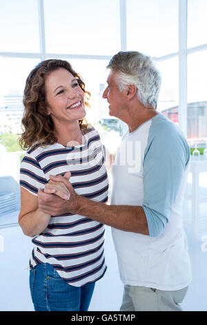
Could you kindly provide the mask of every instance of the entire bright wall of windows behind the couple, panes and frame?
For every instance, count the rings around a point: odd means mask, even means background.
[[[157,110],[181,129],[186,122],[190,141],[205,141],[206,14],[206,0],[0,0],[0,225],[17,222],[17,215],[6,214],[2,204],[7,200],[13,211],[10,194],[18,197],[23,88],[28,73],[43,59],[66,59],[82,75],[91,93],[88,122],[112,146],[112,139],[118,143],[127,128],[108,115],[102,99],[106,65],[119,50],[150,55],[162,76]],[[181,17],[188,18],[185,35]],[[188,62],[188,73],[181,71],[181,58]],[[181,86],[187,84],[185,96]],[[186,121],[179,118],[183,111]]]

